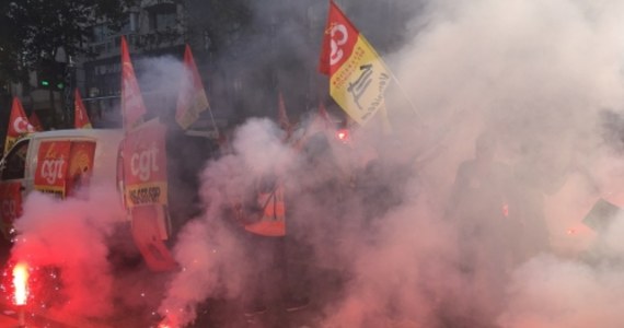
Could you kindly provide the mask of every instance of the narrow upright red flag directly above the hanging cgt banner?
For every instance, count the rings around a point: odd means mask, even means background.
[[[122,36],[122,116],[126,131],[135,128],[147,113],[141,90],[130,61],[126,37]]]

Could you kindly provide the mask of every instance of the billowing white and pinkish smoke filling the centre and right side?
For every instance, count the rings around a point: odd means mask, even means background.
[[[279,167],[289,236],[309,247],[291,259],[307,265],[297,288],[322,307],[325,327],[615,326],[617,306],[606,304],[621,289],[620,270],[578,255],[597,238],[581,222],[594,201],[619,203],[621,160],[604,143],[600,114],[619,113],[624,101],[624,5],[440,0],[423,10],[413,38],[386,58],[403,89],[389,97],[392,136],[365,128],[348,147],[330,141],[330,152],[310,145],[292,154],[275,127],[252,121],[236,133],[235,155],[207,166],[206,212],[182,234],[176,258],[185,270],[162,315],[223,296],[222,288],[241,292],[253,267],[224,261],[220,253],[244,258],[241,242],[208,222],[229,220],[223,195],[243,197]],[[525,198],[509,204],[508,219],[546,221],[508,224],[510,239],[466,238],[446,215],[458,166],[474,156],[483,131],[498,141],[506,188]],[[540,233],[550,247],[531,249]],[[466,247],[477,249],[469,254],[474,272],[463,267]],[[211,260],[189,269],[198,255]],[[216,278],[224,269],[240,274],[226,283]]]

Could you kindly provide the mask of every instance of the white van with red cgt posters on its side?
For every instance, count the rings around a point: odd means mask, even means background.
[[[84,177],[91,185],[114,186],[123,137],[120,129],[71,129],[35,132],[20,139],[0,161],[2,225],[19,218],[21,200],[35,189],[65,197],[69,188],[84,184]]]

